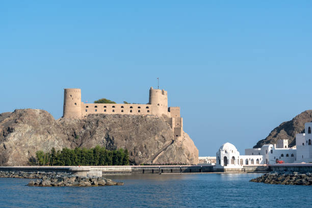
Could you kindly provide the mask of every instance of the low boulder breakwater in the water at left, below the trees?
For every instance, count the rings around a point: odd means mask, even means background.
[[[89,186],[122,186],[122,182],[115,182],[105,177],[87,177],[76,176],[69,173],[56,173],[56,172],[8,172],[0,171],[0,177],[12,178],[34,178],[27,186],[40,186],[40,187],[63,187],[63,186],[76,186],[76,187],[89,187]],[[41,180],[40,180],[41,179]]]

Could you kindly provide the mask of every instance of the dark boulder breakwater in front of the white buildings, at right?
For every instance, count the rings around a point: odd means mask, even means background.
[[[250,181],[265,184],[281,185],[312,185],[312,173],[298,172],[271,172],[260,177],[253,178]]]

